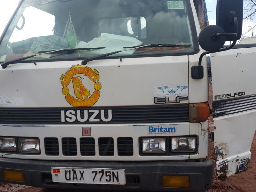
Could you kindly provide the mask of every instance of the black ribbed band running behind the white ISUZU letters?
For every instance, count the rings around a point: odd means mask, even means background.
[[[112,110],[112,119],[101,120],[100,112],[95,119],[99,122],[65,121],[65,124],[120,124],[120,123],[173,123],[188,122],[188,105],[150,106],[150,107],[109,107],[109,108],[0,108],[0,124],[64,124],[61,122],[61,111]],[[89,114],[92,115],[92,114]],[[65,118],[64,118],[65,119]]]

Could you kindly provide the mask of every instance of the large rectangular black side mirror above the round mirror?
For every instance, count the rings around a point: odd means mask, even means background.
[[[225,33],[237,33],[237,40],[242,36],[243,28],[243,0],[217,0],[216,25]],[[237,18],[237,29],[234,18]],[[233,41],[234,37],[228,37],[226,41]]]

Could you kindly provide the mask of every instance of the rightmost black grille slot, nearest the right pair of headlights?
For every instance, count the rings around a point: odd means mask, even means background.
[[[133,156],[133,140],[131,137],[117,138],[117,151],[119,156]]]

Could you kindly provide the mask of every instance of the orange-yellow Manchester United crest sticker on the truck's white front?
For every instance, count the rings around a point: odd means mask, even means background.
[[[68,103],[73,107],[91,107],[100,98],[99,90],[101,89],[101,84],[99,79],[99,72],[96,69],[92,70],[86,66],[73,65],[65,75],[60,77],[63,86],[62,93],[65,95],[65,99]],[[74,96],[72,96],[69,91],[71,81]],[[90,86],[92,83],[93,87]]]

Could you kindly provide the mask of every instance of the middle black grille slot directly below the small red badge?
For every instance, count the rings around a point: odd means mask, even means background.
[[[80,138],[81,156],[95,156],[94,138]]]

